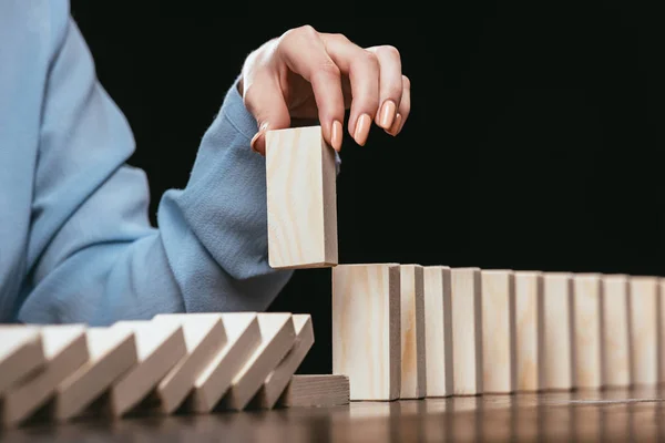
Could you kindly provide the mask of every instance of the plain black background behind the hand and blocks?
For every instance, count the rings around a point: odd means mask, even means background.
[[[72,13],[134,131],[153,220],[247,53],[307,23],[397,47],[412,82],[398,137],[344,142],[340,262],[665,275],[664,40],[654,12],[580,4],[262,21],[182,3],[119,21],[74,1]],[[313,315],[300,372],[329,372],[330,270],[296,271],[270,310]]]

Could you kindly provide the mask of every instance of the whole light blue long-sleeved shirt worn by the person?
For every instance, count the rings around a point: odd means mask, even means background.
[[[0,1],[0,322],[265,310],[293,271],[268,266],[256,131],[231,85],[151,226],[131,128],[69,1]]]

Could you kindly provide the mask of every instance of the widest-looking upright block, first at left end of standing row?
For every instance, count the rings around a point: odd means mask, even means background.
[[[332,373],[348,375],[352,401],[399,398],[400,310],[399,265],[332,269]]]

